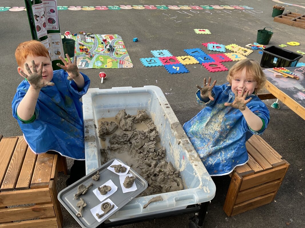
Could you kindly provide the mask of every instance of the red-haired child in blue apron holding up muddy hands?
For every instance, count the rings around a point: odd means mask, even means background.
[[[80,98],[90,79],[70,57],[59,57],[63,70],[53,71],[46,47],[37,40],[20,43],[15,52],[18,73],[24,79],[13,98],[13,116],[35,154],[59,153],[75,159],[72,184],[85,175],[84,120]],[[66,72],[65,72],[65,71]]]

